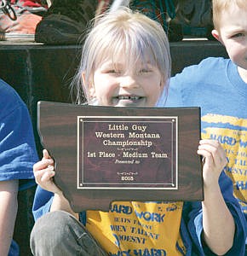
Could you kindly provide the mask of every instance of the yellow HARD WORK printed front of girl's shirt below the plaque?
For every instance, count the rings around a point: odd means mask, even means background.
[[[183,255],[182,207],[182,202],[113,202],[109,212],[87,211],[86,227],[110,255]]]

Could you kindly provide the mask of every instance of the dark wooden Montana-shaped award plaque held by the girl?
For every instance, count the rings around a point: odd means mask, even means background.
[[[37,103],[55,183],[75,212],[112,201],[201,201],[199,108]]]

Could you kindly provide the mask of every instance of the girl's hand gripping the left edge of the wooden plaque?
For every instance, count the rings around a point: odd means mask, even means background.
[[[33,166],[33,172],[35,181],[40,187],[58,195],[62,194],[53,181],[55,176],[54,160],[50,158],[46,149],[43,149],[43,159]]]

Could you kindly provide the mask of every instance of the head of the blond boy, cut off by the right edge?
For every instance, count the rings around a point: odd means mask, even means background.
[[[244,72],[247,70],[246,0],[213,0],[213,19],[212,35],[225,46],[231,60]]]

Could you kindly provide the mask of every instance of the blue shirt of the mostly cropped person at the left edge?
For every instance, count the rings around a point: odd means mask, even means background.
[[[19,189],[35,184],[32,166],[38,160],[32,122],[25,103],[0,79],[0,181],[20,180]],[[9,255],[18,255],[12,242]]]

